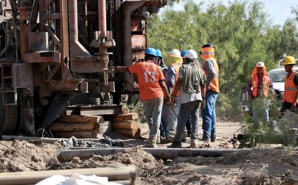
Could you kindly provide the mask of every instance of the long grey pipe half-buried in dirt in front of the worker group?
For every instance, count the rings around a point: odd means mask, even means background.
[[[94,155],[109,155],[121,153],[130,148],[61,148],[58,151],[59,161],[71,161],[73,157],[87,159]],[[258,149],[211,149],[211,148],[142,148],[160,159],[174,159],[176,157],[222,157],[234,152],[255,152]]]

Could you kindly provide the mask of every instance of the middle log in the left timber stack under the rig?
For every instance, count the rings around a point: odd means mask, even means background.
[[[51,131],[96,131],[98,124],[96,123],[51,123],[48,127]]]

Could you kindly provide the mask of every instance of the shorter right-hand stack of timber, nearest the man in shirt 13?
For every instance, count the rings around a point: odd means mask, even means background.
[[[129,137],[140,137],[141,130],[138,128],[137,113],[127,113],[105,116],[105,121],[111,121],[112,130],[116,133]]]

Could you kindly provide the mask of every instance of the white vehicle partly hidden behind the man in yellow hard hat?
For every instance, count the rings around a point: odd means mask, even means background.
[[[296,59],[296,65],[294,65],[294,70],[298,72],[298,65],[297,65],[298,59]],[[275,94],[277,96],[277,99],[279,101],[282,101],[283,93],[284,93],[284,78],[286,75],[286,72],[284,70],[284,66],[282,64],[283,59],[279,60],[277,62],[277,69],[270,70],[269,76],[272,80],[273,88],[275,91]]]

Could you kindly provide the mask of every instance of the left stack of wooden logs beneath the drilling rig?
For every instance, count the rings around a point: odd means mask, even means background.
[[[54,137],[96,138],[99,126],[104,122],[102,116],[61,116],[49,125]]]

